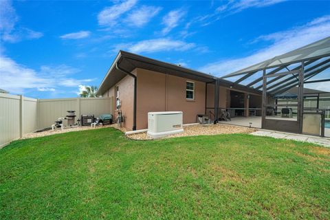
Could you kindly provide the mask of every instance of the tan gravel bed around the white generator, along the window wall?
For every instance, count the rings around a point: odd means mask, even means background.
[[[235,126],[230,124],[197,124],[191,126],[184,126],[184,132],[177,133],[175,135],[168,135],[164,138],[169,137],[185,137],[185,136],[197,136],[197,135],[219,135],[219,134],[229,134],[229,133],[252,133],[257,131],[255,128],[248,128],[245,126]],[[127,135],[127,137],[133,140],[151,140],[150,137],[144,133],[135,133],[132,135]]]

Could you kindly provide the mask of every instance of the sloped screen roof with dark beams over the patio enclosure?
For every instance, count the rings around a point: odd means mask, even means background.
[[[302,66],[304,62],[304,67]],[[329,78],[309,80],[330,67],[330,37],[300,47],[280,56],[246,67],[221,79],[234,78],[233,85],[244,85],[253,89],[263,88],[263,72],[274,76],[267,80],[267,93],[271,95],[283,92],[298,85],[298,72],[304,70],[304,83],[327,82]],[[291,73],[291,74],[285,74]],[[243,82],[247,82],[243,84]]]

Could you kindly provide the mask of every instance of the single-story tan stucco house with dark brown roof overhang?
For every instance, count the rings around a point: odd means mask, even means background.
[[[219,109],[232,109],[233,116],[249,116],[250,111],[261,115],[258,89],[124,51],[116,56],[97,95],[113,97],[115,118],[116,100],[121,101],[128,130],[146,129],[151,111],[182,111],[184,124],[197,122],[198,114],[217,122]]]

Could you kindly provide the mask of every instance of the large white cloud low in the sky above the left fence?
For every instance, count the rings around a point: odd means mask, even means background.
[[[1,89],[14,94],[23,94],[25,89],[60,91],[63,87],[78,87],[95,78],[76,79],[72,75],[80,69],[67,65],[41,66],[39,71],[16,63],[11,58],[0,56]]]

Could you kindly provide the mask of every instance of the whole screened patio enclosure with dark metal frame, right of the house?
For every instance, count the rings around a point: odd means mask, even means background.
[[[329,135],[327,115],[330,107],[320,106],[320,94],[307,97],[304,90],[304,85],[314,87],[318,83],[328,83],[329,67],[330,37],[327,37],[223,76],[221,79],[232,81],[231,89],[244,85],[261,92],[262,96],[261,116],[251,117],[249,104],[244,104],[245,118],[236,117],[221,123],[321,137]],[[296,88],[295,96],[288,92],[292,88]],[[282,102],[284,96],[290,96],[290,101]],[[245,94],[242,100],[248,103],[249,98],[249,94]],[[316,99],[316,105],[307,107],[304,100],[308,98]],[[227,111],[231,109],[227,108]]]

